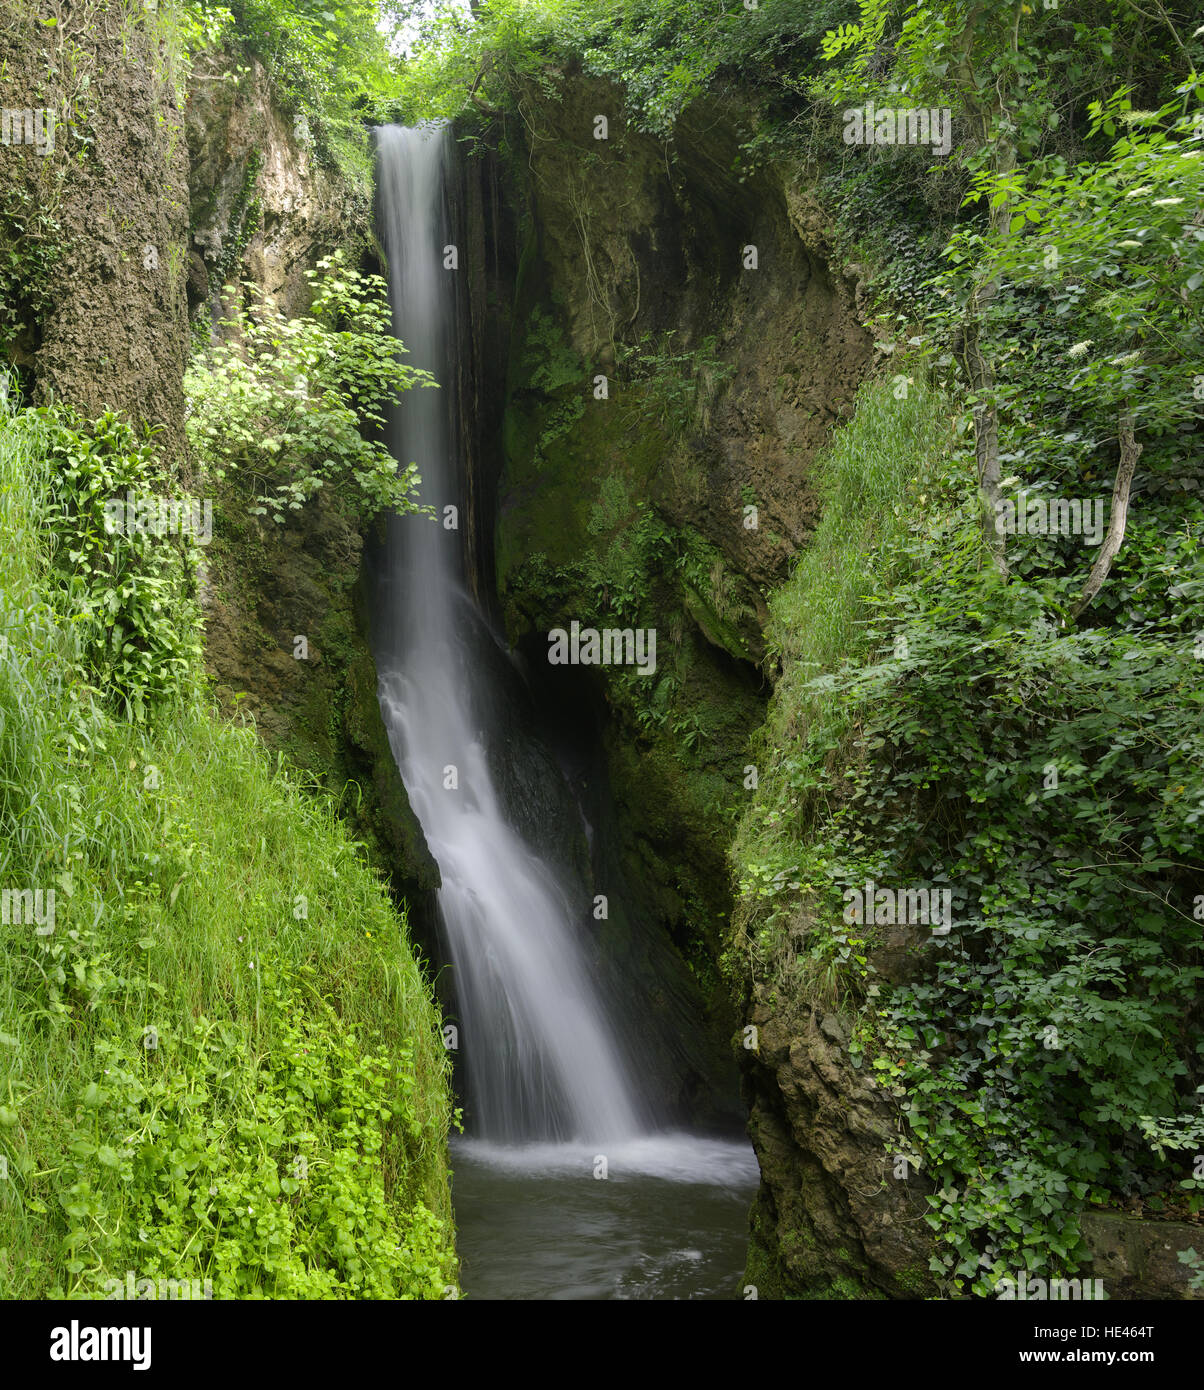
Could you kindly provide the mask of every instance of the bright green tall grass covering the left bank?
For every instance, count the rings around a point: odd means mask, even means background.
[[[448,1059],[405,922],[331,803],[199,687],[142,728],[93,699],[44,493],[36,425],[0,404],[0,890],[56,891],[53,931],[0,924],[0,1295],[96,1297],[127,1269],[215,1276],[218,1297],[380,1293],[368,1252],[346,1248],[375,1198],[381,1238],[417,1270],[388,1291],[437,1295],[455,1280]],[[304,1094],[298,1029],[334,1068],[334,1099]],[[393,1077],[378,1136],[355,1109],[368,1052]],[[268,1093],[292,1131],[264,1129]],[[202,1133],[209,1152],[156,1168],[165,1136]],[[298,1150],[313,1182],[281,1197],[272,1172]],[[221,1165],[239,1193],[259,1184],[270,1230],[253,1213],[236,1227],[227,1188],[200,1183]],[[359,1205],[339,1225],[343,1195]],[[163,1213],[152,1232],[147,1211]],[[442,1226],[410,1251],[425,1212]]]

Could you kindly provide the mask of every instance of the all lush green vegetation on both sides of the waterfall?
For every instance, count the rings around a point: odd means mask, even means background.
[[[501,117],[509,139],[583,72],[666,158],[719,96],[747,114],[741,177],[817,171],[888,366],[816,466],[822,521],[772,600],[781,678],[733,851],[729,977],[854,1017],[854,1059],[932,1183],[945,1293],[1072,1273],[1090,1205],[1196,1216],[1204,33],[1186,4],[484,0],[424,11],[400,64],[380,14],[190,0],[179,42],[261,61],[299,138],[360,175],[373,117],[459,117],[466,136]],[[841,113],[868,101],[947,110],[948,152],[845,143]],[[56,217],[50,197],[0,203],[0,348],[32,341]],[[252,291],[186,384],[196,460],[278,523],[323,488],[364,518],[403,507],[413,482],[371,435],[423,379],[381,284],[334,256],[314,292],[285,318]],[[633,450],[680,443],[723,379],[713,345],[615,348]],[[528,378],[558,398],[542,466],[577,441],[580,364],[542,354]],[[192,543],[106,531],[114,493],[165,485],[113,413],[4,406],[0,1280],[439,1297],[446,1059],[425,981],[328,803],[207,708]],[[1101,503],[1098,538],[995,524],[1032,499]],[[741,655],[741,596],[701,537],[621,478],[585,530],[602,548],[559,566],[560,592],[567,573],[624,624],[649,596],[702,609]],[[633,723],[663,734],[673,656],[623,678]],[[706,752],[697,720],[670,731]],[[950,891],[916,970],[886,979],[874,924],[845,920],[866,880]]]

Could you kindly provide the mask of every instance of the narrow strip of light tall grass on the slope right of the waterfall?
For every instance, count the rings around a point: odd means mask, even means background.
[[[952,443],[938,392],[915,381],[897,399],[893,381],[879,378],[862,386],[852,418],[813,464],[820,523],[769,603],[769,648],[783,673],[752,749],[758,790],[731,849],[734,969],[745,949],[763,959],[787,952],[791,919],[823,881],[808,830],[840,785],[831,773],[848,753],[858,706],[813,682],[869,656],[869,600],[908,573],[908,535],[950,485]],[[824,776],[816,760],[826,762]]]

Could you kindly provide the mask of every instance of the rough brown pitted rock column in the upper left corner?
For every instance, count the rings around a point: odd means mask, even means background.
[[[36,285],[13,357],[38,400],[157,425],[179,463],[188,150],[157,17],[81,4],[50,32],[36,7],[6,6],[0,74],[0,106],[56,114],[50,153],[0,147],[13,292]]]

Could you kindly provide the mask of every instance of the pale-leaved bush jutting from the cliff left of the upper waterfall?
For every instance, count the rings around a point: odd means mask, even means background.
[[[228,342],[193,359],[189,443],[217,478],[239,470],[257,498],[252,513],[277,523],[324,486],[357,498],[364,517],[410,510],[414,466],[399,468],[366,434],[384,428],[399,392],[432,378],[400,361],[381,277],[353,270],[342,252],[307,275],[307,316],[256,303],[224,321]]]

